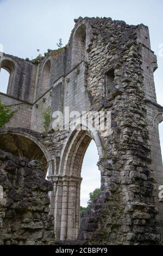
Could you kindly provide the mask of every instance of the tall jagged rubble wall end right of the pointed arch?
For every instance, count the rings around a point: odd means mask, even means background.
[[[157,172],[162,176],[162,162],[158,161],[160,146],[156,144],[154,150],[149,133],[154,115],[148,123],[148,114],[153,109],[159,113],[162,107],[155,104],[156,58],[148,48],[148,28],[108,19],[91,20],[91,26],[94,36],[89,51],[87,90],[93,109],[111,111],[111,135],[102,138],[105,154],[99,163],[101,193],[83,216],[78,242],[159,244],[162,203],[158,203],[160,183],[151,164],[158,163]],[[105,94],[105,74],[109,70],[114,70],[114,88]],[[151,106],[147,104],[147,92]],[[158,143],[158,133],[155,136]]]

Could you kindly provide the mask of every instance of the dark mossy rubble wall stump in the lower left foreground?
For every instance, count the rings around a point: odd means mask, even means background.
[[[43,166],[38,161],[0,150],[0,245],[51,245],[53,216],[49,216],[48,191]]]

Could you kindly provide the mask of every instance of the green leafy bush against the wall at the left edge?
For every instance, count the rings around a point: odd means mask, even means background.
[[[13,117],[16,111],[11,111],[11,107],[5,106],[0,98],[0,127],[4,127],[6,123]]]

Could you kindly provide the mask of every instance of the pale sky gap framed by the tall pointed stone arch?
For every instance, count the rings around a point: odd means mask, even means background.
[[[97,166],[99,160],[96,143],[92,140],[86,150],[82,166],[82,184],[80,188],[80,218],[89,207],[90,193],[101,187],[101,174]]]

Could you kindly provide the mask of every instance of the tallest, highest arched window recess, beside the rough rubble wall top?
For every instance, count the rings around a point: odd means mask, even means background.
[[[72,66],[86,60],[86,27],[80,26],[73,38]]]

